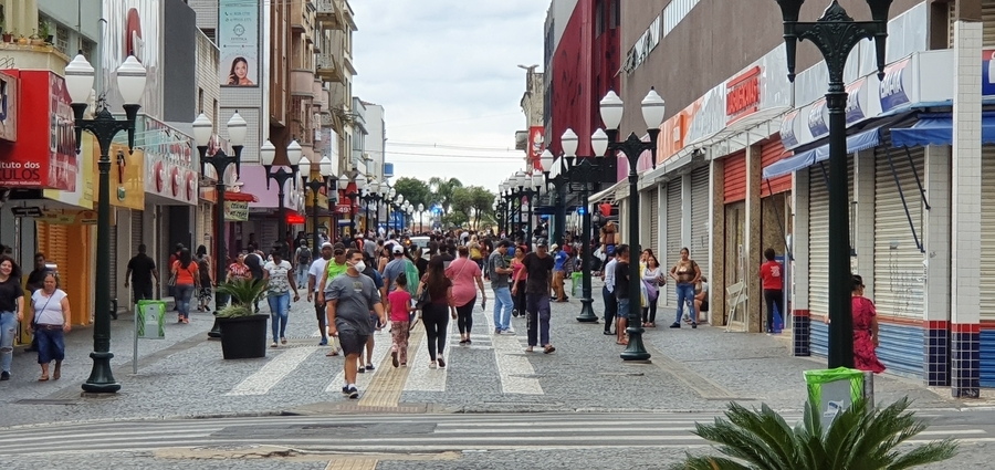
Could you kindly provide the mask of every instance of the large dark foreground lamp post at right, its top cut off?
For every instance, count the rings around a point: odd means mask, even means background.
[[[795,49],[798,41],[811,41],[829,70],[829,368],[853,367],[853,317],[850,304],[850,220],[847,196],[847,91],[844,69],[847,56],[860,41],[873,39],[878,79],[884,80],[884,41],[888,9],[892,0],[867,0],[871,21],[853,21],[834,0],[815,22],[799,22],[805,0],[777,0],[784,20],[788,80],[795,81]]]

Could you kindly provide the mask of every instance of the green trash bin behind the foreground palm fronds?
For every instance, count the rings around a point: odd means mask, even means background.
[[[863,372],[847,367],[805,370],[808,399],[816,404],[823,429],[828,429],[836,416],[863,396]]]

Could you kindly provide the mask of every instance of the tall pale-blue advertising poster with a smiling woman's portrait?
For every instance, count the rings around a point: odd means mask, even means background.
[[[218,4],[221,86],[259,86],[259,0]]]

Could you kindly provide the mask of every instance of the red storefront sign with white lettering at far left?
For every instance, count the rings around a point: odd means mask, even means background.
[[[0,186],[76,189],[78,160],[65,80],[49,71],[11,71],[21,82],[18,142],[0,148]]]

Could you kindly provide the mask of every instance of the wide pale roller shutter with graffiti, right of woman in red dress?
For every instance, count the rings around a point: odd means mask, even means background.
[[[914,170],[922,176],[922,147],[911,149]],[[912,237],[909,217],[896,186],[883,147],[874,150],[874,304],[878,316],[922,317],[922,252]],[[896,173],[909,208],[915,234],[922,241],[922,198],[915,174],[903,149],[891,150]],[[919,354],[922,357],[921,354]]]

